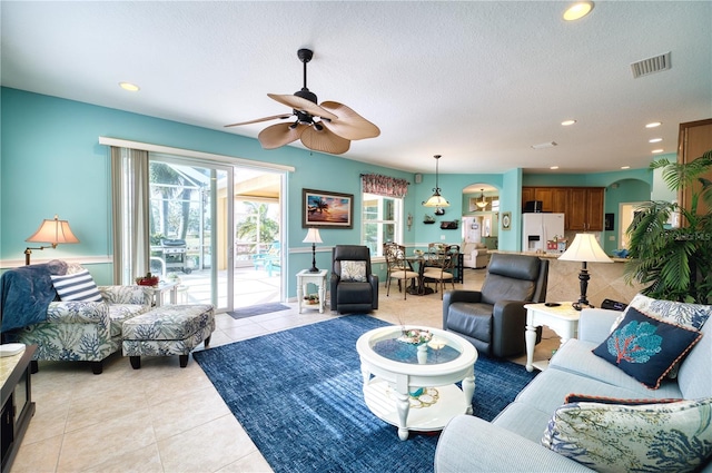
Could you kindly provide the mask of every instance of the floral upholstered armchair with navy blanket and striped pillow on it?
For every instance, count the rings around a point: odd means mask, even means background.
[[[81,266],[66,265],[63,262],[50,262],[50,273],[72,275],[87,273]],[[32,265],[39,267],[42,265]],[[8,273],[31,268],[11,269]],[[2,278],[6,279],[6,274]],[[49,274],[32,275],[33,283],[49,277]],[[22,282],[14,283],[22,286]],[[154,289],[147,286],[98,286],[100,299],[59,300],[57,293],[44,296],[50,298],[44,319],[6,332],[6,317],[11,317],[13,309],[11,286],[7,282],[2,285],[3,299],[3,339],[8,342],[36,344],[32,368],[37,369],[37,361],[86,361],[91,363],[95,374],[103,369],[103,359],[121,347],[121,325],[123,321],[148,312],[151,307]],[[34,287],[41,284],[33,284]],[[17,288],[13,290],[18,290]],[[61,296],[60,296],[61,297]],[[44,307],[36,304],[37,307]],[[40,308],[39,312],[42,312]]]

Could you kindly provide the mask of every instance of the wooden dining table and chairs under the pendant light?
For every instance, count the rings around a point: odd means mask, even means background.
[[[416,249],[412,255],[397,243],[385,243],[383,249],[387,266],[386,296],[390,294],[394,279],[398,282],[398,292],[403,293],[404,299],[408,294],[424,296],[438,292],[442,299],[447,283],[455,289],[459,245],[431,243],[427,252]]]

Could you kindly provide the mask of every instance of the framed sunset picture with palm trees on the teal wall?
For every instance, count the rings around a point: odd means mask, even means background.
[[[354,195],[301,189],[301,228],[354,228]]]

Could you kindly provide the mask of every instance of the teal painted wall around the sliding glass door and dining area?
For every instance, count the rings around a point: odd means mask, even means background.
[[[176,121],[130,114],[121,110],[65,100],[56,97],[2,88],[0,92],[0,270],[18,264],[31,235],[43,218],[60,218],[71,223],[81,240],[76,245],[60,245],[57,249],[34,252],[36,259],[76,258],[91,262],[107,260],[112,253],[110,242],[111,196],[109,149],[99,145],[99,137],[155,144],[259,162],[293,166],[287,179],[286,247],[287,274],[312,264],[308,244],[301,243],[301,189],[332,190],[353,194],[355,200],[354,228],[320,230],[324,248],[317,250],[317,266],[330,267],[328,247],[360,242],[360,179],[364,173],[377,173],[411,181],[405,198],[405,214],[413,215],[413,227],[404,229],[404,244],[427,245],[429,242],[459,243],[462,229],[443,230],[443,220],[459,220],[467,214],[463,189],[473,184],[488,184],[500,190],[501,211],[512,213],[512,229],[500,229],[500,248],[521,249],[521,187],[522,185],[581,185],[609,187],[622,179],[637,179],[651,184],[646,169],[590,175],[523,175],[512,169],[501,175],[443,174],[439,186],[451,207],[437,216],[435,225],[423,224],[423,217],[434,214],[422,203],[433,193],[435,175],[426,174],[415,184],[412,173],[367,165],[336,156],[283,147],[265,150],[253,138],[210,130]],[[358,147],[358,141],[353,144]],[[406,161],[408,156],[403,156]],[[443,159],[447,159],[444,157]],[[607,204],[606,204],[606,208]],[[607,210],[606,210],[607,211]],[[443,239],[444,237],[444,239]],[[295,252],[296,250],[296,252]],[[51,252],[51,255],[50,255]],[[111,282],[111,265],[88,265],[99,284]],[[383,276],[383,265],[375,265]],[[287,296],[296,295],[293,277],[287,277]]]

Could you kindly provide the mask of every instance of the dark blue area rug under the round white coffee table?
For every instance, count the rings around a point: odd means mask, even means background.
[[[364,403],[356,341],[388,325],[349,315],[194,353],[275,472],[427,472],[437,435],[396,427]],[[475,363],[474,414],[487,421],[534,377],[524,366]]]

